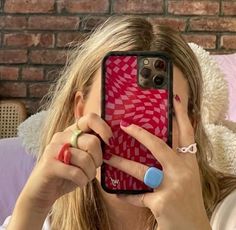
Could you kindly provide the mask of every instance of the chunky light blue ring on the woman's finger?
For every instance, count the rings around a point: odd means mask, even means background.
[[[144,184],[150,188],[157,188],[163,180],[163,172],[155,167],[150,167],[144,175]]]

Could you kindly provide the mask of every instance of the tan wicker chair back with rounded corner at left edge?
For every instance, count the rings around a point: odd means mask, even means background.
[[[17,100],[0,100],[0,138],[16,137],[17,127],[26,117],[23,103]]]

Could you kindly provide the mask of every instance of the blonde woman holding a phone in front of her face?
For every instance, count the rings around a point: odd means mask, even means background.
[[[121,128],[163,166],[164,179],[153,193],[116,196],[99,183],[103,161],[140,180],[147,170],[115,155],[102,158],[97,135],[108,145],[113,142],[110,127],[99,116],[101,60],[111,50],[164,50],[174,62],[173,148],[142,128],[121,122]],[[211,229],[217,204],[230,193],[236,196],[236,178],[208,165],[211,148],[201,122],[201,89],[198,61],[178,33],[137,17],[109,19],[75,48],[58,81],[47,108],[38,163],[7,229],[42,229],[46,218],[45,229]],[[58,153],[77,127],[83,134],[77,148],[70,147],[70,164],[65,164]],[[196,154],[176,152],[194,142]]]

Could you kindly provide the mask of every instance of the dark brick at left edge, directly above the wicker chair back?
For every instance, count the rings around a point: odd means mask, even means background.
[[[26,85],[24,83],[1,82],[1,97],[26,97]]]

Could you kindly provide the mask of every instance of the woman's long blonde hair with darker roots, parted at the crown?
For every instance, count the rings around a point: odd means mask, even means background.
[[[39,160],[54,133],[63,131],[74,123],[75,93],[81,91],[86,100],[93,76],[100,68],[105,54],[111,50],[164,50],[186,77],[189,83],[189,114],[197,121],[195,138],[199,146],[197,159],[202,193],[210,218],[215,206],[236,188],[236,178],[215,171],[207,161],[206,154],[211,155],[212,150],[201,122],[202,76],[198,61],[179,33],[164,26],[152,25],[143,18],[110,18],[81,46],[72,49],[46,106],[50,113],[43,128]],[[59,198],[52,207],[51,215],[52,229],[111,229],[109,215],[96,179],[85,188],[78,188]],[[147,222],[151,229],[157,226],[151,215]]]

